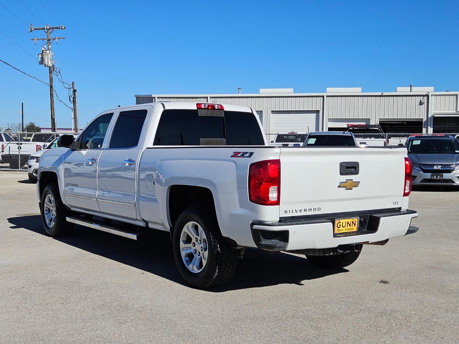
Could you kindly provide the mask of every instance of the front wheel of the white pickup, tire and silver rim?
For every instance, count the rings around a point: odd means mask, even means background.
[[[41,220],[46,233],[51,237],[62,237],[73,229],[74,224],[67,222],[67,209],[61,200],[57,183],[50,183],[41,194]]]

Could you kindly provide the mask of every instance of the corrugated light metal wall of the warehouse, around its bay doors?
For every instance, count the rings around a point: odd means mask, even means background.
[[[430,114],[441,111],[458,111],[458,93],[431,94]],[[136,104],[155,101],[154,96],[136,97]],[[324,109],[325,99],[325,109]],[[371,124],[380,118],[422,118],[429,117],[429,95],[427,94],[319,94],[319,95],[162,95],[156,101],[213,102],[250,106],[263,111],[263,128],[270,132],[271,111],[303,110],[319,112],[319,128],[327,130],[328,118],[369,118]],[[429,121],[425,121],[427,123]],[[425,130],[430,130],[426,127]]]

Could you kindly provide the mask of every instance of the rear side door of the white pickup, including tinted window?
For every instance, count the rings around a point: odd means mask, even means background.
[[[102,213],[137,219],[137,166],[151,106],[119,111],[102,150],[97,171],[97,201]]]

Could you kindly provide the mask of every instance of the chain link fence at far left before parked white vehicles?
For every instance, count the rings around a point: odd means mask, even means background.
[[[30,155],[50,145],[56,147],[56,139],[62,134],[65,133],[0,132],[0,170],[27,170]]]

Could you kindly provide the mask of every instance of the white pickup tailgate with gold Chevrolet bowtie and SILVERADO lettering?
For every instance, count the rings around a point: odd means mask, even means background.
[[[405,148],[282,147],[280,217],[399,208],[405,156]],[[358,174],[341,174],[343,162],[358,162]]]

